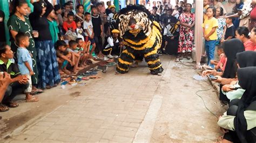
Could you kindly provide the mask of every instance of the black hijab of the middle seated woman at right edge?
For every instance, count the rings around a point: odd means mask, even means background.
[[[240,68],[256,67],[256,52],[244,51],[237,53],[237,62]]]

